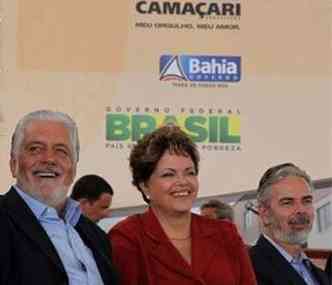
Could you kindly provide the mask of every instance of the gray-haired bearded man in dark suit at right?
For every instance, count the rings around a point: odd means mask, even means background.
[[[259,285],[328,285],[304,253],[314,220],[310,177],[292,163],[269,168],[257,190],[262,234],[250,249]]]

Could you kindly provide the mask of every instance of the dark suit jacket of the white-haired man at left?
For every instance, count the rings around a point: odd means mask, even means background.
[[[0,198],[0,228],[0,285],[69,284],[47,233],[13,188]],[[117,284],[105,233],[84,216],[75,228],[93,252],[104,284]]]

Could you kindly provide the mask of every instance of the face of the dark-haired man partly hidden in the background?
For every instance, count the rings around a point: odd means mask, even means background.
[[[89,201],[88,199],[80,201],[83,214],[95,223],[111,216],[111,204],[112,195],[109,193],[102,193],[95,201]]]

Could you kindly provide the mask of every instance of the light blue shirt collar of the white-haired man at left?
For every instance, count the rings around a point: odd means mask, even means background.
[[[18,185],[14,185],[14,188],[16,192],[22,197],[22,199],[25,201],[25,203],[29,206],[33,214],[36,216],[36,218],[40,221],[41,218],[46,215],[50,210],[53,212],[55,211],[54,208],[44,204],[43,202],[35,199],[28,193],[22,191]],[[64,220],[72,225],[75,226],[78,223],[78,220],[82,214],[80,209],[80,204],[71,199],[67,198],[65,209],[64,209]],[[56,211],[55,211],[56,212]]]

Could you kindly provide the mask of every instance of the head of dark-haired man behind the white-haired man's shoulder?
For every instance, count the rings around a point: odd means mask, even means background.
[[[71,198],[80,203],[82,213],[97,223],[111,216],[114,191],[111,185],[98,175],[85,175],[73,187]]]

